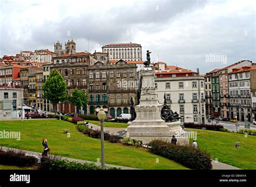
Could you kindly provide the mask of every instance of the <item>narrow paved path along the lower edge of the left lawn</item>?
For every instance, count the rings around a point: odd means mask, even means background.
[[[22,149],[15,149],[15,148],[9,148],[9,147],[2,147],[0,146],[0,149],[2,150],[15,150],[15,151],[21,151]],[[22,150],[25,152],[26,155],[30,155],[30,156],[35,156],[37,157],[38,159],[41,157],[42,153],[38,153],[38,152],[31,152],[29,150]],[[72,159],[72,158],[69,158],[69,157],[61,157],[60,159],[63,159],[63,160],[68,160],[68,161],[76,161],[76,162],[80,162],[80,163],[94,163],[96,164],[97,166],[101,166],[101,163],[98,163],[98,162],[92,162],[92,161],[87,161],[87,160],[79,160],[79,159]],[[105,164],[105,166],[107,167],[111,167],[111,168],[120,168],[120,169],[124,169],[124,170],[138,170],[138,168],[130,168],[130,167],[125,167],[125,166],[116,166],[116,165],[112,165],[112,164]]]

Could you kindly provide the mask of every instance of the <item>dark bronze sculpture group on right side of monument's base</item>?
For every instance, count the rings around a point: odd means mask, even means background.
[[[161,118],[165,120],[165,122],[169,121],[178,121],[180,119],[179,114],[174,112],[170,109],[170,106],[167,105],[166,96],[164,93],[164,105],[161,109]]]

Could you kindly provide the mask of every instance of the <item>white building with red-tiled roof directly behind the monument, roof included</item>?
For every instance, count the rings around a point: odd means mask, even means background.
[[[164,62],[154,64],[153,69],[159,103],[164,103],[165,95],[172,111],[179,113],[181,122],[205,123],[204,76],[177,66],[166,66]]]

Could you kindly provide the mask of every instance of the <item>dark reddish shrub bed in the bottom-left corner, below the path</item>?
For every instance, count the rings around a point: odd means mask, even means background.
[[[33,166],[38,162],[35,156],[25,155],[22,150],[0,149],[0,164],[10,166]]]

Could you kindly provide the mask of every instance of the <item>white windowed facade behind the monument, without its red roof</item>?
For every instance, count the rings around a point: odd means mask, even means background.
[[[202,76],[161,77],[154,79],[159,103],[180,114],[184,123],[205,123],[205,79]]]

